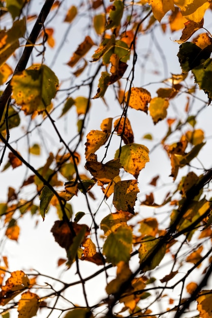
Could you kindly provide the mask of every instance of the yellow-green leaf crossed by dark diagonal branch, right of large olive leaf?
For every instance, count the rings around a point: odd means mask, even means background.
[[[159,243],[159,239],[154,236],[145,236],[141,240],[141,245],[139,247],[139,258],[140,264],[146,261],[146,259],[151,255],[148,265],[143,268],[143,271],[154,269],[158,266],[163,259],[166,252],[166,245],[164,244],[160,249],[156,246]]]

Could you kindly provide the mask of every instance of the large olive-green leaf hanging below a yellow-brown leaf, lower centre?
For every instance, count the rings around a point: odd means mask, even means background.
[[[110,233],[103,245],[103,253],[108,263],[118,264],[120,261],[127,263],[132,250],[132,229],[120,226],[115,232]]]

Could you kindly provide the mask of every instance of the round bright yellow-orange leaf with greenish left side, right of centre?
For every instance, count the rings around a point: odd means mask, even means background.
[[[145,164],[149,162],[148,148],[140,144],[128,144],[121,148],[119,155],[119,149],[115,152],[115,158],[120,158],[120,164],[125,171],[131,173],[136,179],[139,172],[145,167]]]

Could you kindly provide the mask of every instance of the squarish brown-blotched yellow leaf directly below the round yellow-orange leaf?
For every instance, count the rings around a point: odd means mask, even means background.
[[[124,180],[115,183],[113,204],[117,210],[134,214],[135,201],[139,188],[136,180]]]

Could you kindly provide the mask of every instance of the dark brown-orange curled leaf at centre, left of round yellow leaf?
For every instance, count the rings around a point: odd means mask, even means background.
[[[85,164],[85,168],[97,179],[103,183],[109,183],[114,179],[120,170],[119,159],[110,160],[106,164],[99,163],[97,161],[88,161]]]

